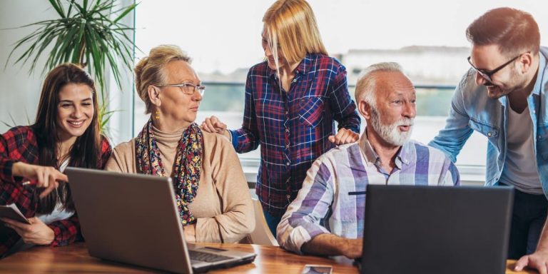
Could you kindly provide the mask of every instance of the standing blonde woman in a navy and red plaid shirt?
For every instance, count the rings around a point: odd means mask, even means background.
[[[266,60],[248,73],[242,128],[227,131],[215,116],[202,127],[230,138],[238,153],[260,144],[256,192],[275,234],[313,161],[335,144],[357,141],[360,117],[346,68],[328,56],[306,1],[276,1],[263,23]]]

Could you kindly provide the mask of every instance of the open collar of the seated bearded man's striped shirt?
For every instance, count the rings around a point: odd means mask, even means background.
[[[365,128],[364,133],[360,137],[360,149],[365,158],[365,164],[367,166],[370,166],[372,164],[380,166],[380,157],[375,152],[375,149],[371,146],[371,143],[369,143],[369,140],[367,140],[367,128]],[[413,163],[413,157],[414,151],[412,150],[412,144],[410,143],[410,141],[407,141],[403,144],[402,147],[400,147],[400,150],[397,151],[397,156],[395,158],[396,167],[402,169],[403,165],[409,165],[410,163]]]

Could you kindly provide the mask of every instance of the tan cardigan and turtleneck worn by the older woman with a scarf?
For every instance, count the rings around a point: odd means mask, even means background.
[[[162,165],[166,173],[171,174],[182,131],[166,133],[153,128],[153,132],[161,153]],[[203,132],[203,143],[198,193],[188,206],[198,219],[196,242],[235,243],[255,228],[248,183],[232,144],[224,136]],[[105,169],[137,173],[135,139],[116,146]]]

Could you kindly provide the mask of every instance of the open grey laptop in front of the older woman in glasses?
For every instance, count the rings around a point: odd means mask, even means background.
[[[176,273],[250,263],[254,253],[187,244],[171,178],[66,168],[89,254]]]

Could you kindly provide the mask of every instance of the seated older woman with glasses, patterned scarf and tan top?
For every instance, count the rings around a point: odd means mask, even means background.
[[[114,148],[106,170],[173,178],[186,240],[241,240],[255,225],[248,184],[230,141],[194,123],[205,87],[190,58],[178,46],[157,46],[135,74],[151,118]]]

